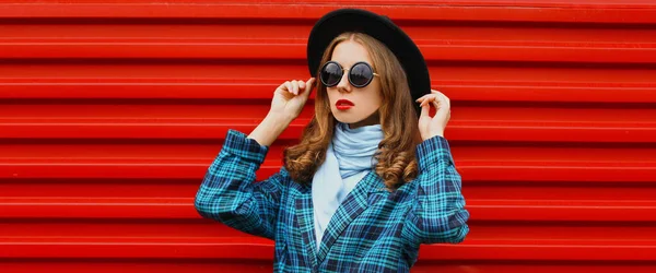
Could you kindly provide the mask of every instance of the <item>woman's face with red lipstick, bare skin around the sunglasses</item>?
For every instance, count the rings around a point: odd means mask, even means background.
[[[374,80],[362,88],[354,87],[349,82],[348,70],[354,63],[365,61],[373,68],[366,49],[354,40],[344,40],[335,47],[331,60],[344,69],[339,84],[327,88],[330,110],[335,118],[349,123],[351,128],[378,123],[377,112],[383,102],[379,76],[374,76]]]

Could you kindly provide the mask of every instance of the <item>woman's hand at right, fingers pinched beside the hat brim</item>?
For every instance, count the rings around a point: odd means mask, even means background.
[[[431,90],[431,94],[417,99],[421,104],[421,116],[419,117],[419,132],[423,140],[435,135],[444,138],[444,129],[450,119],[450,100],[438,91]],[[435,116],[429,115],[430,107],[435,107]]]

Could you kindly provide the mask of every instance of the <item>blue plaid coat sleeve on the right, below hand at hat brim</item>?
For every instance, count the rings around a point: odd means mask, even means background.
[[[461,178],[446,139],[436,135],[417,146],[419,175],[414,180],[406,236],[419,244],[458,244],[469,227]]]

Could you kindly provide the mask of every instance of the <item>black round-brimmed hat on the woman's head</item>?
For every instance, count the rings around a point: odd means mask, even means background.
[[[321,16],[309,33],[307,40],[307,64],[309,74],[316,75],[321,57],[330,41],[344,32],[367,34],[384,45],[397,57],[406,75],[413,100],[431,93],[431,78],[423,55],[412,39],[389,17],[361,9],[339,9]],[[419,104],[414,105],[420,115]]]

